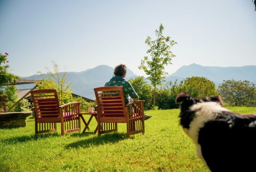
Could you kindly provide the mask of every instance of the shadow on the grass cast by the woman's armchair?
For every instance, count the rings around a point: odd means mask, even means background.
[[[78,133],[77,135],[81,137],[81,135],[84,135],[84,134],[80,135]],[[88,136],[88,134],[85,134],[85,136]],[[130,137],[130,138],[132,139],[133,137]],[[66,147],[66,149],[80,148],[80,147],[92,147],[92,146],[104,145],[104,144],[108,144],[108,143],[113,144],[113,143],[119,142],[120,140],[125,140],[125,139],[127,139],[126,133],[117,133],[117,132],[106,133],[106,134],[102,134],[100,136],[95,135],[95,137],[93,137],[93,138],[70,143],[70,144],[66,145],[65,147]]]

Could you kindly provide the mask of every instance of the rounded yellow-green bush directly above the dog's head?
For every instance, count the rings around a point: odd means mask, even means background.
[[[184,80],[183,91],[193,97],[216,96],[218,91],[214,82],[205,77],[192,76]]]

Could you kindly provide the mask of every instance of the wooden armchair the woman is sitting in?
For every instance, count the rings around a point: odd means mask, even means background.
[[[145,100],[125,105],[122,87],[94,89],[97,101],[98,135],[117,131],[117,123],[126,123],[127,137],[145,133],[143,103]]]

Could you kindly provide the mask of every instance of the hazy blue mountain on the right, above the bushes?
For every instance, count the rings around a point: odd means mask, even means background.
[[[182,66],[175,73],[166,77],[166,80],[172,80],[178,77],[178,80],[185,79],[191,76],[204,76],[219,85],[223,80],[234,79],[236,81],[248,80],[256,83],[256,66],[242,66],[242,67],[208,67],[198,64],[191,64]]]

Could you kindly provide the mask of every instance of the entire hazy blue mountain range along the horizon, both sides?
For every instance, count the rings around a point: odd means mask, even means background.
[[[82,72],[66,72],[67,82],[72,82],[70,88],[73,93],[95,99],[93,88],[104,86],[104,84],[114,75],[114,69],[107,65],[100,65],[92,69],[87,69]],[[177,80],[186,79],[191,76],[204,76],[219,85],[223,80],[234,79],[236,81],[248,80],[256,83],[256,66],[242,66],[242,67],[207,67],[198,64],[191,64],[182,66],[175,73],[166,76],[166,81],[174,82]],[[135,75],[130,69],[127,69],[126,80],[135,78]],[[45,75],[44,77],[48,77]],[[41,75],[32,75],[29,77],[22,77],[24,79],[43,79]],[[33,88],[34,84],[18,85],[18,89]]]

